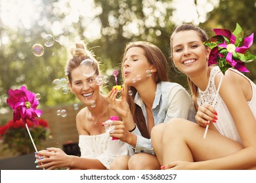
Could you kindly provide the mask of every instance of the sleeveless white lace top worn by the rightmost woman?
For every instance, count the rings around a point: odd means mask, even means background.
[[[236,69],[232,69],[232,71],[247,78],[244,74],[240,73]],[[216,74],[219,72],[221,72],[219,67],[213,67],[213,69],[211,69],[209,82],[206,90],[201,91],[198,88],[198,94],[199,94],[198,106],[203,105],[204,103],[213,105],[213,101],[217,93],[217,88],[215,87],[214,79]],[[251,108],[251,111],[253,112],[253,116],[256,119],[256,85],[249,78],[247,78],[247,80],[250,82],[251,88],[253,90],[253,95],[251,97],[251,101],[248,101],[248,105]],[[224,135],[230,139],[233,139],[234,141],[242,142],[238,134],[238,131],[236,129],[236,124],[234,123],[234,120],[220,95],[218,95],[217,97],[215,110],[217,111],[217,114],[218,114],[217,116],[218,120],[217,120],[217,123],[213,123],[213,124],[218,129],[219,133],[221,133],[221,135]]]

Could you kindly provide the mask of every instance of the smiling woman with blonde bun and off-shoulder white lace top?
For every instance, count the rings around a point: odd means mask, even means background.
[[[69,156],[60,148],[47,148],[47,150],[38,152],[38,155],[44,158],[37,159],[35,163],[37,163],[37,168],[44,167],[47,169],[60,167],[110,169],[114,158],[130,156],[134,152],[128,149],[128,144],[125,142],[112,141],[112,137],[109,133],[105,133],[105,127],[102,126],[102,122],[109,120],[110,116],[118,115],[110,108],[106,96],[100,93],[101,84],[96,82],[96,77],[100,75],[98,61],[84,44],[76,44],[75,50],[72,50],[72,55],[73,58],[68,61],[66,67],[70,90],[85,105],[76,116],[81,157]],[[91,59],[95,73],[82,73],[80,71],[79,65],[85,59]],[[122,168],[121,165],[119,167]]]

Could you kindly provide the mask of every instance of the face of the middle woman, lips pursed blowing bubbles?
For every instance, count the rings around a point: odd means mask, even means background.
[[[125,84],[136,86],[137,83],[150,78],[146,75],[146,71],[152,69],[152,73],[156,72],[153,68],[154,66],[148,62],[142,48],[137,46],[129,48],[123,63]]]

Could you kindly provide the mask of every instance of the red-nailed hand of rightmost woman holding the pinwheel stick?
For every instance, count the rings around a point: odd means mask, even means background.
[[[195,116],[196,122],[202,127],[209,125],[209,122],[217,122],[217,112],[212,105],[203,104],[198,107],[198,111]]]

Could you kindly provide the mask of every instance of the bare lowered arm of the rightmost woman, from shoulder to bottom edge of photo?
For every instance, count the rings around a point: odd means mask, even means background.
[[[220,79],[221,75],[217,75],[216,88]],[[234,71],[226,71],[219,94],[234,119],[244,149],[223,158],[197,162],[197,166],[204,169],[256,169],[256,120],[247,104],[247,92],[252,95],[249,82]]]

